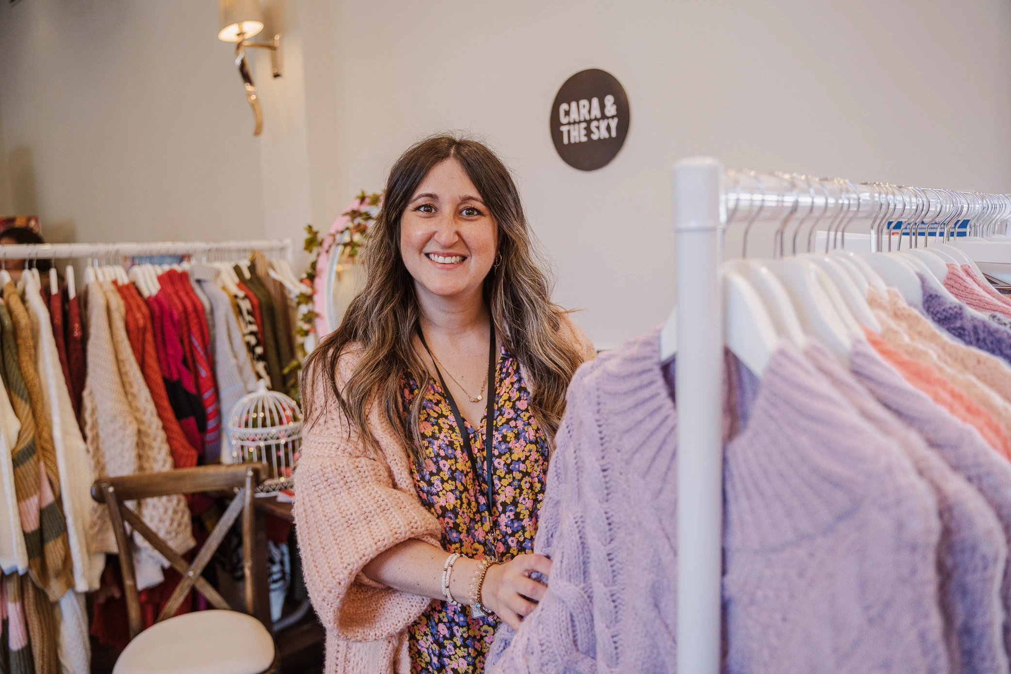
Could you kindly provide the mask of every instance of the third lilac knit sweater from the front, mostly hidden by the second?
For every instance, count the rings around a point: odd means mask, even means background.
[[[878,402],[824,347],[811,343],[804,354],[883,437],[902,448],[937,497],[940,600],[952,671],[1006,673],[1000,586],[1007,542],[997,515],[976,487],[931,450],[922,436]],[[944,671],[941,663],[931,664],[931,671]]]

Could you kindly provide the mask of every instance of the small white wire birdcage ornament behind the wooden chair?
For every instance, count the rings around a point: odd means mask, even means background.
[[[233,407],[225,425],[232,444],[229,463],[263,462],[270,477],[259,492],[290,489],[302,445],[302,411],[298,404],[260,381],[254,393],[243,396]]]

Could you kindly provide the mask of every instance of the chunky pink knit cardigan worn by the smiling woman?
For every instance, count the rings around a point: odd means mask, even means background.
[[[575,323],[566,318],[563,329],[584,360],[593,358],[592,344]],[[355,349],[341,357],[339,388],[359,358]],[[320,413],[303,438],[294,515],[305,584],[327,630],[326,673],[409,672],[406,628],[430,599],[376,583],[361,571],[409,539],[439,546],[442,528],[419,500],[406,448],[379,406],[369,411],[369,427],[382,453],[372,456],[321,376],[311,394]]]

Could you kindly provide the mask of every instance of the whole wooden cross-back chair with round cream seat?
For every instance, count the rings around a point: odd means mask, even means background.
[[[119,567],[122,570],[131,640],[116,661],[113,674],[182,674],[193,671],[273,674],[277,671],[280,655],[274,646],[274,639],[268,628],[254,617],[258,608],[254,562],[266,564],[266,560],[254,559],[253,496],[257,485],[267,475],[266,464],[234,464],[199,466],[164,473],[139,473],[95,481],[91,496],[108,506],[119,550]],[[234,490],[238,490],[236,497],[190,564],[159,538],[133,510],[125,506],[126,501],[154,496]],[[233,609],[200,575],[240,514],[243,517],[246,599],[242,612]],[[151,543],[182,575],[182,580],[156,623],[144,632],[133,573],[132,547],[126,524]],[[200,592],[218,610],[194,611],[169,617],[178,610],[191,589]],[[269,607],[266,609],[269,610]]]

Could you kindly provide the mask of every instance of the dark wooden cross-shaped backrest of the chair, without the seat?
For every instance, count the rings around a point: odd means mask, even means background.
[[[241,514],[243,517],[243,573],[246,606],[243,612],[256,614],[256,592],[254,588],[253,565],[257,561],[253,554],[253,496],[256,487],[268,476],[267,465],[262,463],[232,464],[228,466],[198,466],[182,468],[164,473],[136,473],[121,477],[105,477],[95,481],[91,487],[91,497],[109,508],[112,529],[119,551],[119,568],[123,576],[123,590],[126,599],[126,615],[129,619],[130,639],[142,631],[141,599],[137,594],[136,576],[133,571],[133,555],[126,524],[133,527],[152,547],[161,553],[169,564],[182,575],[169,601],[165,604],[157,621],[171,617],[179,609],[183,599],[191,589],[196,589],[207,598],[214,608],[235,610],[227,601],[200,575],[218,546],[224,540],[228,528]],[[165,541],[148,526],[130,508],[126,501],[172,494],[195,494],[201,492],[237,491],[214,531],[203,544],[203,548],[190,564],[172,550]],[[263,561],[262,563],[266,563]]]

